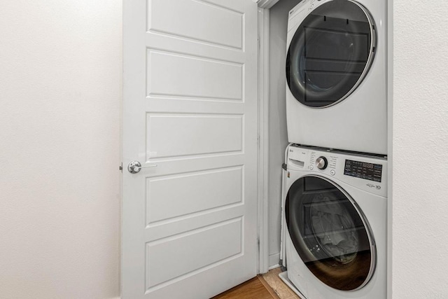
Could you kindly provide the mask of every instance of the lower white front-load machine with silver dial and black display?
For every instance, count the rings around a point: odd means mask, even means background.
[[[288,279],[303,299],[385,299],[387,160],[288,146]]]

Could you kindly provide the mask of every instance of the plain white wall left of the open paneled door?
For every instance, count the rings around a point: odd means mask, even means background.
[[[120,295],[121,15],[1,1],[1,298]]]

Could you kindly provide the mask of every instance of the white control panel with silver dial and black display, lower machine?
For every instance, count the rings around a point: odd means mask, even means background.
[[[386,158],[293,145],[288,147],[286,164],[287,170],[323,174],[386,196]]]

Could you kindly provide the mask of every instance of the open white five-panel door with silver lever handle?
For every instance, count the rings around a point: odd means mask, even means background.
[[[123,9],[123,299],[210,298],[257,274],[258,8]]]

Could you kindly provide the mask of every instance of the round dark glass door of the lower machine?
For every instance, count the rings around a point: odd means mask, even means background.
[[[315,277],[341,291],[362,288],[372,277],[375,249],[356,203],[335,183],[304,176],[286,197],[286,224],[295,249]]]

